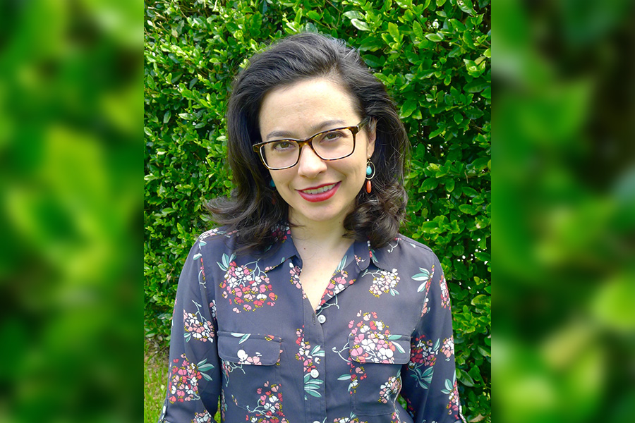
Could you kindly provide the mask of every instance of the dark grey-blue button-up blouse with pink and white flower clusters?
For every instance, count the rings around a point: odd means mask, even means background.
[[[200,235],[181,273],[161,423],[464,422],[447,284],[430,248],[356,242],[317,311],[289,228],[260,255]],[[404,397],[406,409],[397,396]]]

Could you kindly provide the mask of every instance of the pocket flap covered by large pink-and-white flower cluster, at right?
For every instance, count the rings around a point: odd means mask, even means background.
[[[410,336],[351,333],[349,351],[351,360],[358,363],[406,364],[410,361]]]

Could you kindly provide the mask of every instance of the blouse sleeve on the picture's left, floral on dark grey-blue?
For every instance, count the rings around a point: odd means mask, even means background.
[[[216,307],[206,283],[213,286],[211,280],[205,281],[198,241],[190,250],[176,290],[167,398],[159,423],[213,422],[217,411],[221,374]]]

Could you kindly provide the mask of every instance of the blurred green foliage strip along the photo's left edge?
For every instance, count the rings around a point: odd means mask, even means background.
[[[0,422],[143,415],[142,16],[0,6]]]

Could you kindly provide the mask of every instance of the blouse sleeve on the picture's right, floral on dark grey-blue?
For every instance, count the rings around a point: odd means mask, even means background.
[[[449,291],[436,256],[432,263],[418,275],[428,271],[429,277],[419,279],[426,295],[411,338],[410,361],[402,368],[401,395],[415,423],[464,423],[456,389]]]

